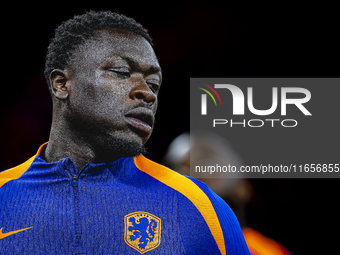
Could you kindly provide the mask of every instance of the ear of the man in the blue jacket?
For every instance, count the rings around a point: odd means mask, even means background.
[[[50,73],[50,84],[52,93],[59,99],[66,99],[68,97],[68,81],[69,75],[66,70],[54,69]]]

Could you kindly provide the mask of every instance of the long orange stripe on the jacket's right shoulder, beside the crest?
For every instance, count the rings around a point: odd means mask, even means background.
[[[135,157],[134,161],[139,170],[180,192],[196,206],[208,224],[220,252],[226,255],[222,228],[208,196],[189,178],[157,164],[142,155]]]

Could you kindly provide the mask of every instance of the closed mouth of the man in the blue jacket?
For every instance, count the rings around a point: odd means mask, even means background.
[[[128,126],[141,137],[146,137],[151,134],[154,124],[154,115],[150,109],[145,107],[138,107],[127,114],[125,118]]]

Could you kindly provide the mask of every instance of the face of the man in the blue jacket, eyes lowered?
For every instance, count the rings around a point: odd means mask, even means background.
[[[143,147],[153,130],[162,79],[156,55],[134,33],[98,33],[71,57],[67,118],[102,149]]]

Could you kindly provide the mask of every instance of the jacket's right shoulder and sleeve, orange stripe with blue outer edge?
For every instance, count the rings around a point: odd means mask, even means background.
[[[181,193],[201,214],[221,254],[249,254],[238,220],[230,207],[205,183],[175,172],[144,156],[134,158],[136,167]]]

